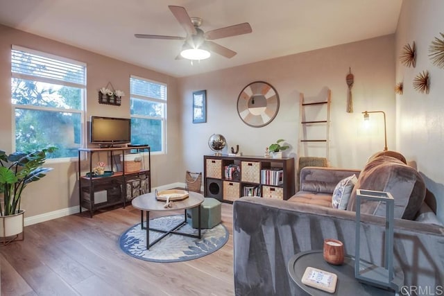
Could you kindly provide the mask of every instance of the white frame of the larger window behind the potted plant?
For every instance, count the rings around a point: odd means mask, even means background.
[[[76,64],[77,66],[83,67],[84,69],[84,74],[83,74],[83,80],[84,80],[84,84],[81,83],[76,83],[76,82],[70,82],[70,81],[65,81],[65,80],[59,80],[56,78],[48,78],[48,77],[40,77],[40,76],[33,76],[30,74],[25,74],[25,73],[17,73],[12,71],[12,51],[23,51],[25,53],[29,53],[31,55],[38,55],[42,58],[49,58],[52,60],[57,60],[59,62],[66,62],[69,64]],[[17,46],[17,45],[13,45],[11,46],[11,50],[10,50],[10,54],[11,54],[11,83],[12,83],[12,79],[13,78],[17,78],[17,79],[22,79],[22,80],[31,80],[31,81],[35,81],[35,82],[42,82],[42,83],[48,83],[48,84],[53,84],[53,85],[62,85],[64,87],[75,87],[80,89],[80,96],[81,96],[81,101],[80,101],[80,110],[78,109],[72,109],[72,108],[58,108],[58,107],[44,107],[44,106],[36,106],[36,105],[20,105],[20,104],[15,104],[11,102],[11,120],[12,120],[12,128],[11,128],[11,137],[12,137],[12,151],[16,150],[16,143],[15,143],[15,138],[16,138],[16,129],[15,129],[15,125],[16,125],[16,120],[15,120],[15,112],[17,109],[19,110],[37,110],[37,111],[46,111],[46,112],[65,112],[65,113],[71,113],[71,114],[80,114],[80,126],[78,127],[80,130],[80,147],[84,147],[85,143],[87,143],[87,131],[84,129],[85,127],[85,116],[86,116],[86,110],[85,110],[85,105],[86,105],[86,94],[87,94],[87,64],[85,62],[79,62],[77,60],[71,60],[69,58],[65,58],[65,57],[61,57],[59,55],[53,55],[51,53],[45,53],[43,51],[36,51],[34,49],[28,49],[26,47],[23,46]],[[12,101],[12,94],[11,94],[11,101]],[[52,163],[52,164],[56,164],[56,163],[62,163],[62,162],[74,162],[78,159],[77,155],[74,155],[72,157],[58,157],[58,158],[47,158],[46,162],[47,163]]]

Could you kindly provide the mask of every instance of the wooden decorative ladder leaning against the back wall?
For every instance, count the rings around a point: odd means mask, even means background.
[[[304,156],[304,150],[307,150],[307,143],[309,142],[322,142],[325,143],[325,158],[330,159],[330,100],[331,91],[327,89],[327,94],[325,101],[305,101],[304,94],[300,94],[299,96],[299,118],[300,118],[300,131],[299,131],[299,142],[298,142],[298,157]],[[316,118],[316,120],[310,120],[310,114],[305,110],[305,108],[309,107],[321,107],[321,105],[326,105],[326,108],[319,108],[319,111],[325,109],[325,117],[321,119]],[[315,126],[325,125],[325,138],[322,139],[314,139],[309,137],[310,128],[314,128]],[[313,136],[311,136],[313,137]]]

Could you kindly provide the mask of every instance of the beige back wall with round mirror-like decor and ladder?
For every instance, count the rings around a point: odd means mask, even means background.
[[[287,154],[296,156],[299,94],[318,97],[326,88],[332,91],[332,166],[362,168],[370,155],[384,148],[382,116],[373,116],[379,124],[373,132],[364,132],[364,110],[386,112],[388,148],[395,149],[394,40],[394,35],[388,35],[179,78],[185,168],[203,171],[203,155],[212,153],[207,141],[213,133],[223,134],[228,147],[239,144],[244,155],[264,155],[266,146],[286,139],[292,146]],[[349,67],[355,76],[353,113],[345,112]],[[262,128],[246,125],[237,114],[239,92],[256,80],[270,83],[280,96],[278,116]],[[199,89],[207,89],[207,123],[193,124],[191,94]],[[310,150],[307,155],[312,156]]]

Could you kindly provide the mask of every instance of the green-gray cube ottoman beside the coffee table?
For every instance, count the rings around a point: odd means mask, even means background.
[[[210,229],[221,223],[221,202],[214,198],[205,198],[200,204],[200,228]],[[198,208],[187,209],[187,222],[193,228],[198,227]]]

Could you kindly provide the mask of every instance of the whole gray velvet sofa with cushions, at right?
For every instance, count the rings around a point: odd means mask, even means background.
[[[336,184],[351,173],[358,178],[348,209],[332,208]],[[300,173],[300,186],[302,190],[289,200],[244,197],[234,202],[236,295],[305,295],[289,277],[287,263],[298,252],[322,250],[325,238],[343,241],[345,253],[353,256],[357,189],[395,193],[398,218],[393,252],[395,264],[404,272],[404,285],[432,290],[441,285],[442,289],[444,227],[423,202],[422,177],[407,168],[405,159],[375,155],[362,171],[306,167]],[[365,221],[361,225],[361,254],[364,252],[364,259],[379,265],[384,259],[381,245],[385,219],[379,217],[382,209],[375,203],[361,206]]]

